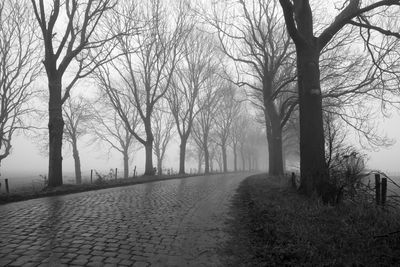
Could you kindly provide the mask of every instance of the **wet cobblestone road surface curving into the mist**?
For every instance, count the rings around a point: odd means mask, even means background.
[[[151,182],[0,206],[0,266],[223,266],[245,174]]]

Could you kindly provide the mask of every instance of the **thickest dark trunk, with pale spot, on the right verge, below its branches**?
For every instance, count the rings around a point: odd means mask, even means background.
[[[311,196],[327,181],[317,41],[296,46],[300,109],[300,192]]]

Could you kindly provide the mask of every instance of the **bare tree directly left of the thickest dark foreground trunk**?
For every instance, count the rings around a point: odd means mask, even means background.
[[[218,2],[217,2],[218,3]],[[297,105],[289,85],[295,80],[293,47],[276,0],[246,1],[217,6],[211,24],[223,52],[235,63],[239,86],[250,88],[256,107],[264,112],[269,173],[283,174],[282,131]]]

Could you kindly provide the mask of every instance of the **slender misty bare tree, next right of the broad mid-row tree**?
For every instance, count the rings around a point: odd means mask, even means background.
[[[167,99],[180,137],[179,173],[185,173],[186,144],[194,118],[199,112],[196,100],[215,69],[215,47],[210,35],[194,29],[185,43],[183,60],[173,76]]]

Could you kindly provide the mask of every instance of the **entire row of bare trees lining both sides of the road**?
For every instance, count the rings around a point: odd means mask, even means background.
[[[9,154],[12,133],[24,128],[21,116],[30,111],[34,92],[29,88],[44,58],[49,186],[62,184],[64,132],[79,161],[72,127],[77,117],[90,118],[98,136],[114,136],[124,162],[138,141],[145,148],[145,174],[153,174],[153,153],[162,170],[173,129],[180,173],[190,142],[204,157],[206,173],[212,145],[220,148],[225,171],[232,147],[236,170],[240,136],[256,128],[246,126],[251,116],[242,102],[250,101],[264,125],[270,174],[282,175],[285,155],[299,147],[300,190],[323,195],[329,181],[324,117],[338,118],[360,140],[384,145],[371,120],[373,101],[396,105],[399,84],[399,0],[339,2],[321,10],[310,0],[5,0],[2,157]],[[95,81],[97,104],[69,100],[83,78]],[[95,112],[86,114],[87,106]]]

